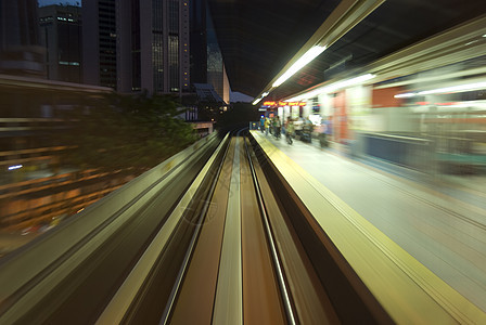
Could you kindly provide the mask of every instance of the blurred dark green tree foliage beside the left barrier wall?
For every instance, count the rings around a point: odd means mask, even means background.
[[[170,96],[103,95],[75,110],[64,162],[104,170],[150,169],[196,139]]]

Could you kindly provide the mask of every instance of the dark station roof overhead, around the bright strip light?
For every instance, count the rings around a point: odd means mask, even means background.
[[[486,13],[477,0],[208,0],[231,89],[257,96],[333,11],[359,2],[374,8],[269,99],[292,95]]]

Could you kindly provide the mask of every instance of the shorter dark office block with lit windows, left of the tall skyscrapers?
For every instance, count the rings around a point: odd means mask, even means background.
[[[39,8],[40,42],[46,48],[47,78],[81,82],[81,15],[76,5]]]

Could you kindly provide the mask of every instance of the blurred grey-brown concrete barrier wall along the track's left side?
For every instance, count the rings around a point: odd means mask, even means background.
[[[49,270],[53,264],[60,263],[63,255],[73,248],[79,248],[76,246],[80,245],[87,237],[89,237],[86,239],[89,240],[89,247],[82,246],[82,249],[79,250],[82,250],[84,256],[89,255],[95,249],[95,245],[99,245],[99,243],[95,243],[97,240],[91,242],[91,237],[94,237],[94,235],[101,237],[95,232],[98,227],[103,223],[111,222],[114,224],[112,229],[107,231],[103,229],[103,232],[113,233],[115,225],[123,223],[124,218],[125,220],[128,218],[128,216],[118,218],[119,216],[129,214],[126,213],[130,212],[128,210],[133,210],[151,199],[152,195],[158,191],[157,184],[162,183],[161,180],[169,174],[171,170],[177,168],[179,164],[184,164],[184,161],[191,159],[192,154],[197,154],[199,151],[204,151],[209,147],[209,144],[216,142],[219,142],[216,133],[200,140],[89,206],[64,224],[4,257],[0,262],[0,287],[2,288],[0,290],[0,301],[7,301],[12,295],[22,291],[21,289],[25,289],[25,285],[28,285],[33,278]],[[92,233],[95,234],[93,235]],[[62,270],[55,269],[55,272],[68,272],[76,266],[76,263],[80,262],[79,257],[72,260],[71,264],[63,262],[63,268],[59,268]],[[52,285],[54,284],[52,283]]]

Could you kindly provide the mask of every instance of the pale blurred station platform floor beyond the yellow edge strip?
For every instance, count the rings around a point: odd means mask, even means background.
[[[434,181],[415,171],[351,159],[335,148],[321,150],[300,141],[290,145],[283,135],[276,140],[259,131],[252,134],[267,156],[286,156],[295,169],[304,170],[299,171],[302,182],[319,182],[312,186],[329,191],[327,195],[333,197],[330,202],[341,202],[343,210],[366,219],[376,233],[389,238],[388,243],[396,243],[411,256],[402,261],[417,260],[420,268],[430,270],[486,312],[486,199],[481,182],[476,187],[455,186],[453,182]],[[300,182],[297,178],[287,181],[291,186]],[[424,287],[431,278],[423,276]]]

